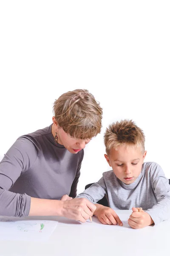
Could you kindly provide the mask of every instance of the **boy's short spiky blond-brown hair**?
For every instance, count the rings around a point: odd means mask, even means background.
[[[113,122],[106,129],[104,142],[106,153],[109,154],[111,148],[118,150],[120,145],[141,146],[144,151],[144,133],[132,120],[121,120]]]

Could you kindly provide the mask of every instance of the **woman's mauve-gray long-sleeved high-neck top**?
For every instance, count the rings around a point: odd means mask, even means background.
[[[84,155],[55,144],[51,126],[19,137],[0,162],[0,215],[24,217],[31,197],[76,197]]]

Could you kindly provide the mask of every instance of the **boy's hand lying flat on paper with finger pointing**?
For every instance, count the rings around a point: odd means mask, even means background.
[[[96,210],[94,212],[94,215],[97,216],[97,218],[99,219],[100,222],[102,222],[102,224],[109,224],[109,225],[119,224],[119,226],[123,225],[122,221],[119,219],[118,215],[113,209],[111,209],[110,207],[103,206],[101,204],[95,204],[95,205],[96,205]]]

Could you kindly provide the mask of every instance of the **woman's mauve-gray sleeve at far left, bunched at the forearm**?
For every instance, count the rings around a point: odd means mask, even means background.
[[[11,146],[0,162],[0,215],[28,216],[31,197],[8,191],[22,172],[27,171],[37,158],[38,148],[21,137]]]

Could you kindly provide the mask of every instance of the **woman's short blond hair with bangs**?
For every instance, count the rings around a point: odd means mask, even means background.
[[[91,139],[102,128],[102,108],[88,90],[63,93],[54,102],[57,123],[71,137]]]

